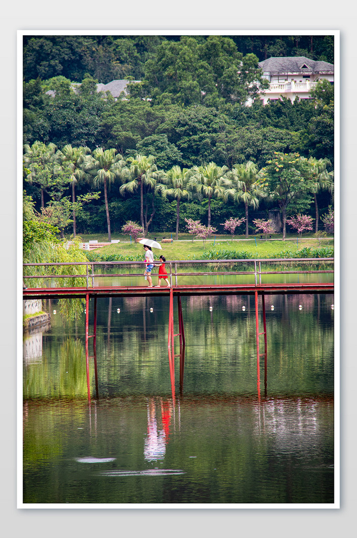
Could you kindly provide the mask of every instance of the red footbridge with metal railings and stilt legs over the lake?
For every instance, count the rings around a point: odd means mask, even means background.
[[[256,348],[257,348],[257,392],[258,398],[260,398],[260,357],[264,355],[264,387],[265,393],[267,390],[267,333],[266,333],[266,316],[265,316],[265,295],[277,295],[277,294],[333,294],[334,284],[333,278],[331,281],[315,281],[311,282],[311,279],[324,280],[326,275],[333,277],[333,258],[290,258],[290,259],[256,259],[256,260],[177,260],[171,261],[167,265],[169,271],[167,271],[170,279],[170,288],[164,287],[148,287],[137,285],[123,285],[123,286],[103,286],[98,285],[98,281],[105,278],[121,278],[121,279],[134,279],[137,277],[142,278],[142,273],[121,272],[116,274],[98,274],[95,268],[98,266],[120,266],[120,267],[135,267],[139,265],[143,266],[143,262],[88,262],[88,263],[43,263],[43,264],[24,264],[24,272],[30,272],[31,267],[35,267],[35,272],[38,273],[39,267],[45,267],[45,272],[42,274],[24,274],[26,284],[31,282],[31,279],[40,279],[39,282],[42,285],[44,282],[46,287],[34,287],[25,288],[23,290],[23,299],[64,299],[64,298],[84,298],[86,301],[85,310],[85,357],[86,357],[86,376],[88,387],[88,400],[91,399],[90,394],[90,376],[89,376],[89,338],[93,338],[93,360],[94,360],[94,374],[96,383],[96,395],[99,397],[98,392],[98,373],[97,373],[97,353],[96,353],[96,336],[97,336],[97,300],[98,298],[107,298],[114,296],[167,296],[169,298],[169,327],[167,338],[167,350],[169,355],[169,370],[171,381],[171,392],[173,403],[175,401],[175,358],[179,357],[179,386],[180,393],[183,391],[184,386],[184,365],[185,365],[185,330],[184,330],[184,316],[181,306],[182,296],[205,296],[205,295],[254,295],[255,299],[255,313],[256,313]],[[205,267],[206,271],[178,271],[178,267],[195,266],[199,264],[200,268]],[[275,265],[278,270],[263,271],[262,264]],[[210,265],[214,265],[214,270],[210,271]],[[252,265],[252,270],[247,270],[247,266]],[[296,269],[298,265],[308,265],[309,270],[306,268]],[[332,266],[327,269],[311,269],[311,266],[321,265]],[[59,266],[75,266],[77,269],[82,267],[85,269],[85,273],[82,274],[57,274]],[[283,267],[282,269],[280,267]],[[29,269],[27,269],[27,267]],[[218,267],[221,270],[218,270]],[[243,269],[243,270],[242,270]],[[229,279],[231,275],[234,275]],[[231,283],[231,280],[241,277],[243,281],[237,283]],[[284,282],[275,283],[263,283],[263,279],[271,279],[271,275],[281,275],[281,280]],[[303,282],[299,281],[305,280]],[[59,282],[61,279],[75,278],[85,279],[85,286],[71,286],[60,287]],[[203,279],[204,284],[191,284],[189,280],[197,280],[197,278]],[[214,280],[214,283],[208,283],[207,280]],[[222,279],[225,282],[222,283]],[[178,284],[178,281],[182,284]],[[185,281],[188,280],[188,283]],[[230,280],[230,282],[229,282]],[[287,281],[288,280],[288,281]],[[294,281],[297,280],[297,281]],[[310,281],[308,281],[310,280]],[[81,281],[81,284],[82,284]],[[219,282],[218,282],[219,281]],[[263,314],[263,330],[259,328],[259,295],[261,296],[261,311]],[[178,332],[174,334],[174,308],[173,297],[177,297],[178,306]],[[93,312],[93,334],[89,335],[89,300],[94,300],[94,312]],[[174,352],[174,337],[179,337],[179,353]],[[259,340],[260,336],[264,336],[264,353],[260,353]]]

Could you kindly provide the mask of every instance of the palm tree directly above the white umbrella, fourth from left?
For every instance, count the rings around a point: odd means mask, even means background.
[[[155,165],[154,155],[135,155],[127,159],[128,165],[124,165],[121,169],[121,178],[125,182],[120,187],[120,193],[133,193],[135,190],[140,190],[140,219],[143,235],[148,233],[149,225],[155,215],[154,196],[152,197],[152,212],[147,220],[147,207],[144,214],[144,197],[151,190],[154,194],[161,187],[157,186],[157,180],[163,176],[162,172],[157,170]]]

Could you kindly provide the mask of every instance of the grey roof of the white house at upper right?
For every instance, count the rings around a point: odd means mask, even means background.
[[[333,63],[311,60],[306,56],[272,57],[259,62],[264,73],[333,73]]]

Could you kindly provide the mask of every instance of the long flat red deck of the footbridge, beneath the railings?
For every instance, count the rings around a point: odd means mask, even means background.
[[[334,293],[333,282],[314,284],[259,284],[254,285],[190,285],[172,286],[173,295],[253,295],[258,294],[296,294],[296,293]],[[56,288],[27,288],[23,290],[25,299],[64,299],[114,296],[163,296],[170,295],[170,288],[148,286],[96,286],[86,287],[56,287]]]

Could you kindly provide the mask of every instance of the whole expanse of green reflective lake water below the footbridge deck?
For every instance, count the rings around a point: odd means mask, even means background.
[[[24,504],[334,502],[333,295],[266,295],[259,377],[253,296],[181,301],[172,391],[169,296],[98,299],[90,400],[85,314],[44,302],[50,326],[24,336]]]

